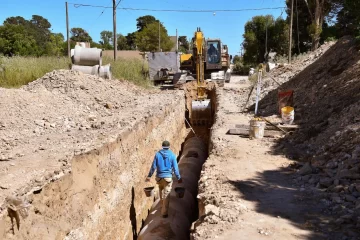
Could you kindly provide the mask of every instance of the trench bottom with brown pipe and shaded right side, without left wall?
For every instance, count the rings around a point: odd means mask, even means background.
[[[194,87],[188,87],[192,93],[186,95],[187,108],[184,119],[189,133],[181,145],[178,157],[179,171],[183,183],[178,184],[176,177],[173,177],[167,218],[163,218],[161,215],[162,203],[160,193],[158,190],[155,192],[154,203],[144,221],[137,238],[138,240],[190,239],[191,226],[199,219],[199,204],[197,201],[198,181],[200,179],[202,166],[209,153],[210,129],[214,122],[215,112],[217,111],[217,102],[215,87],[211,86],[206,92],[207,98],[211,100],[212,118],[205,126],[191,126],[191,108],[189,108],[189,106],[194,99]],[[184,187],[186,189],[183,198],[177,197],[175,191],[177,187]]]

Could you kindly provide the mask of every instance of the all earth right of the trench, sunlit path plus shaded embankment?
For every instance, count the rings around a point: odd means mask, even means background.
[[[246,77],[232,77],[217,91],[192,239],[359,239],[357,46],[345,37],[267,75],[260,115],[281,121],[278,90],[294,90],[300,129],[286,137],[226,134],[253,117],[243,112],[251,85]]]

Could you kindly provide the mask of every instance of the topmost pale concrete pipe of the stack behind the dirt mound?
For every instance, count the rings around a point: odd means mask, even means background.
[[[73,64],[82,66],[102,65],[102,50],[99,48],[77,47],[72,56]]]

